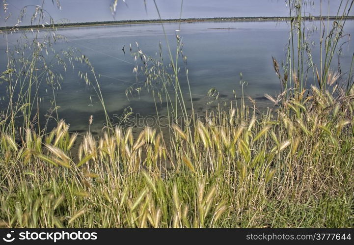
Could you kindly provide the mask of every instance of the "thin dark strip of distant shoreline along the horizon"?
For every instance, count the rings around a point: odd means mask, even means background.
[[[342,18],[342,17],[340,17]],[[337,16],[312,16],[302,17],[303,20],[336,20]],[[354,20],[354,16],[343,17],[345,20]],[[0,30],[26,30],[26,29],[46,29],[46,28],[65,28],[65,27],[95,27],[95,26],[115,26],[115,25],[134,25],[134,24],[154,24],[154,23],[193,23],[193,22],[265,22],[265,21],[290,21],[290,17],[220,17],[220,18],[188,18],[188,19],[164,19],[164,20],[124,20],[124,21],[101,21],[83,23],[61,23],[52,25],[32,25],[18,27],[0,27]]]

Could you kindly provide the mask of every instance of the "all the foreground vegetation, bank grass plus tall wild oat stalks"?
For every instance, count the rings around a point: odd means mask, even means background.
[[[188,117],[186,104],[193,105],[180,86],[189,87],[187,65],[179,62],[186,59],[181,38],[176,34],[175,56],[167,42],[168,65],[138,46],[132,50],[141,61],[134,71],[145,79],[127,95],[146,88],[157,103],[167,104],[172,118],[188,118],[183,124],[172,119],[167,132],[145,128],[134,136],[132,128],[110,127],[94,68],[78,51],[55,52],[48,40],[63,38],[54,35],[55,29],[19,42],[1,75],[8,107],[0,121],[0,225],[353,227],[354,81],[352,66],[344,74],[332,65],[353,0],[341,1],[335,21],[321,19],[316,61],[307,41],[316,32],[310,33],[302,18],[311,1],[287,2],[287,59],[279,64],[273,58],[282,91],[277,97],[265,95],[274,104],[266,111],[257,111],[250,98],[247,106],[243,96],[219,104],[206,121]],[[44,10],[35,11],[33,21],[39,25]],[[107,119],[98,139],[88,131],[79,141],[58,118],[54,91],[62,76],[46,61],[51,52],[64,71],[75,62],[88,67],[89,74],[80,76],[95,89]],[[179,79],[182,71],[186,81]],[[316,83],[309,86],[309,77]],[[45,117],[39,109],[42,81],[53,94]],[[243,89],[242,79],[240,84]],[[57,122],[53,130],[46,127],[50,119]],[[78,150],[72,151],[76,144]]]

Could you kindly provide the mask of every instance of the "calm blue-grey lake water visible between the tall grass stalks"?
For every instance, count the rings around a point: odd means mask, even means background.
[[[311,28],[318,23],[310,22]],[[164,24],[171,47],[176,46],[176,29],[178,24]],[[232,29],[214,29],[227,28]],[[283,23],[275,22],[243,22],[243,23],[183,23],[178,34],[184,43],[183,53],[187,55],[187,67],[191,92],[193,94],[194,108],[197,112],[208,109],[207,92],[215,87],[220,93],[222,101],[229,102],[234,99],[233,90],[241,96],[240,73],[247,82],[245,95],[256,99],[260,108],[272,106],[263,95],[277,94],[280,90],[272,66],[272,56],[279,61],[285,59],[286,45],[289,38],[289,27]],[[354,22],[347,21],[346,33],[354,34]],[[163,30],[159,24],[141,24],[107,27],[80,27],[63,28],[58,30],[68,42],[55,44],[55,49],[64,49],[66,46],[76,47],[88,56],[101,74],[102,93],[110,116],[120,115],[124,108],[130,106],[135,113],[141,115],[155,115],[156,109],[152,95],[142,91],[140,96],[127,98],[125,90],[136,82],[133,74],[135,67],[134,58],[129,52],[129,44],[135,49],[135,42],[146,54],[159,53],[159,42],[162,42],[163,54],[167,60],[166,43]],[[9,36],[10,47],[16,43],[20,33]],[[318,34],[315,34],[316,38]],[[4,38],[2,37],[4,40]],[[347,41],[348,38],[343,39]],[[313,58],[319,60],[318,39],[313,40]],[[0,44],[1,69],[6,65],[5,42]],[[125,45],[125,54],[122,51]],[[353,41],[349,40],[342,46],[341,58],[342,72],[349,71],[353,54]],[[173,52],[174,53],[174,52]],[[337,57],[336,57],[337,58]],[[167,63],[167,61],[165,61]],[[337,64],[335,60],[334,65]],[[183,63],[181,63],[183,65]],[[183,67],[183,66],[182,66]],[[58,71],[60,70],[57,68]],[[94,90],[78,77],[78,71],[88,71],[82,65],[76,64],[74,70],[68,68],[63,74],[64,82],[61,90],[57,91],[56,103],[60,106],[59,117],[65,118],[71,124],[72,130],[87,130],[88,118],[94,116],[92,130],[102,129],[104,120],[101,104]],[[181,69],[182,89],[187,92],[185,71]],[[311,79],[309,79],[311,81]],[[2,94],[4,93],[3,87]],[[173,88],[171,88],[173,89]],[[43,112],[48,108],[50,95],[41,91],[45,98],[41,107]],[[91,96],[91,100],[90,100]],[[187,94],[185,96],[188,96]],[[1,102],[2,108],[5,102]],[[188,107],[190,107],[188,105]],[[159,113],[166,112],[164,105],[159,106]]]

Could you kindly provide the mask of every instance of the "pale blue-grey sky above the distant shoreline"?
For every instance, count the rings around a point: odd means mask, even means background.
[[[55,2],[56,0],[54,0]],[[113,0],[59,0],[61,10],[53,5],[52,0],[45,0],[46,9],[55,21],[96,22],[112,20],[158,19],[153,0],[118,0],[113,16],[110,6]],[[315,9],[308,8],[312,15],[319,15],[320,0],[313,0]],[[328,3],[329,1],[329,3]],[[2,2],[2,1],[1,1]],[[6,0],[6,13],[0,12],[0,26],[13,26],[25,5],[41,5],[42,0]],[[336,15],[340,0],[322,0],[322,11]],[[163,19],[175,19],[180,16],[181,0],[156,0]],[[27,18],[20,25],[29,25],[34,6],[28,6]],[[5,17],[11,13],[10,18]],[[351,11],[353,15],[354,12]],[[285,0],[184,0],[182,18],[246,17],[246,16],[288,16]]]

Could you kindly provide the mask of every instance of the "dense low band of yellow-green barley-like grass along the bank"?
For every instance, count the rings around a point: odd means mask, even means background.
[[[2,225],[352,227],[348,103],[319,93],[251,120],[233,109],[192,137],[174,126],[172,147],[149,128],[87,133],[78,156],[63,121],[44,138],[28,130],[21,148],[3,135]]]

